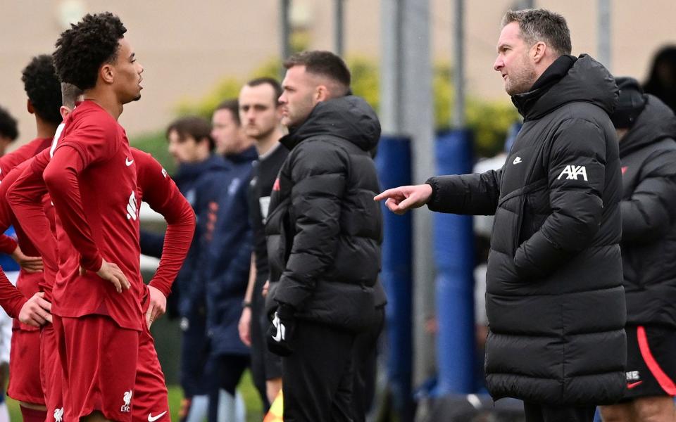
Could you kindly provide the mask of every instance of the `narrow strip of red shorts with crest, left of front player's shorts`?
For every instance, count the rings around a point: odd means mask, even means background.
[[[61,396],[61,382],[63,371],[56,347],[56,333],[54,326],[46,324],[42,328],[40,336],[42,359],[40,359],[40,375],[42,377],[42,390],[47,407],[46,422],[63,421],[63,398]]]

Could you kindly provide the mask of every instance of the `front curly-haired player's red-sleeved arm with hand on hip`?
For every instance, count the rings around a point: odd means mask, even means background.
[[[94,271],[102,279],[113,283],[115,290],[122,292],[130,288],[130,282],[117,264],[106,262],[101,256],[99,248],[94,243],[92,229],[84,215],[82,198],[80,197],[80,183],[78,176],[97,157],[96,151],[87,151],[88,143],[96,145],[105,142],[106,137],[101,133],[105,127],[89,127],[89,134],[83,136],[87,142],[69,141],[64,139],[56,147],[54,156],[42,173],[42,178],[54,203],[56,215],[61,220],[63,230],[68,235],[73,247],[80,253],[82,268]],[[109,129],[110,130],[110,129]],[[73,136],[75,137],[75,136]],[[89,142],[92,141],[92,142]],[[105,156],[104,154],[101,154]]]

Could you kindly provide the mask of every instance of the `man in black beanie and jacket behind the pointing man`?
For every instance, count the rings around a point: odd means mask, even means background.
[[[676,117],[636,79],[618,78],[611,115],[622,160],[627,390],[603,421],[673,421],[676,395]]]

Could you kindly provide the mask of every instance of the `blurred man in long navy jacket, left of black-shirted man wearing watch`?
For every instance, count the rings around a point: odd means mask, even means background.
[[[215,422],[236,420],[235,389],[249,367],[249,347],[240,340],[237,326],[251,267],[252,233],[246,193],[258,153],[253,139],[239,127],[236,100],[218,106],[212,122],[217,151],[225,154],[227,162],[227,172],[220,179],[218,204],[210,216],[213,239],[199,267],[207,281],[207,331],[211,342],[207,367],[214,375],[208,419]],[[219,407],[225,419],[218,417]]]

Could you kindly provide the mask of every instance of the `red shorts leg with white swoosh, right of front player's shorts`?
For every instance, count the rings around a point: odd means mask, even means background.
[[[148,331],[146,321],[141,332],[139,345],[139,364],[136,372],[136,389],[134,390],[134,421],[169,422],[169,397],[164,373],[157,359],[155,342]]]

